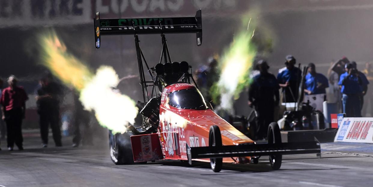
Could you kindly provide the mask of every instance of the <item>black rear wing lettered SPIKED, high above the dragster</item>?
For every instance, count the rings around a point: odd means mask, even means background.
[[[94,20],[96,48],[100,48],[101,35],[196,33],[197,45],[202,44],[202,15],[197,10],[195,17],[181,18],[129,18]]]

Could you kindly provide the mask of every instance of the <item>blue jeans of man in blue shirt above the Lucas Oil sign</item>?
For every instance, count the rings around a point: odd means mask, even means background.
[[[357,94],[342,96],[343,112],[346,117],[361,117],[360,97]]]

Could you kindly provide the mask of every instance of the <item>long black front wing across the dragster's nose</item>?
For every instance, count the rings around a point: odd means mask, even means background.
[[[316,139],[316,138],[315,138]],[[263,156],[263,155],[292,155],[317,153],[321,156],[319,141],[314,142],[292,142],[292,143],[263,143],[226,146],[189,147],[186,144],[186,153],[189,164],[192,159],[200,158],[225,158],[238,156]]]

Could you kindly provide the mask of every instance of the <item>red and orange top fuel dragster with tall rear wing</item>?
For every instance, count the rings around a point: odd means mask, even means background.
[[[124,134],[109,132],[110,157],[115,164],[130,164],[163,159],[210,162],[214,172],[223,162],[258,163],[269,156],[273,169],[279,169],[282,155],[317,153],[320,143],[282,143],[277,123],[269,124],[268,142],[256,143],[207,107],[185,62],[171,61],[166,33],[196,33],[202,44],[201,10],[195,17],[182,18],[94,18],[96,48],[101,35],[133,34],[142,86],[142,123],[129,126]],[[156,66],[149,67],[139,45],[140,34],[160,34],[162,53]],[[144,70],[144,64],[146,70]],[[151,80],[145,80],[147,77]],[[193,84],[191,84],[191,81]],[[150,91],[151,89],[151,91]]]

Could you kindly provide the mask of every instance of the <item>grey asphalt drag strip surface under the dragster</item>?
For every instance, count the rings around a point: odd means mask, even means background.
[[[258,165],[224,164],[214,173],[209,163],[194,167],[179,161],[144,165],[114,165],[100,146],[40,148],[39,137],[26,137],[25,150],[0,151],[0,187],[14,186],[372,186],[373,145],[324,143],[316,154],[285,155],[282,167],[272,171],[267,156]],[[53,140],[52,142],[53,143]],[[97,148],[100,147],[100,148]]]

